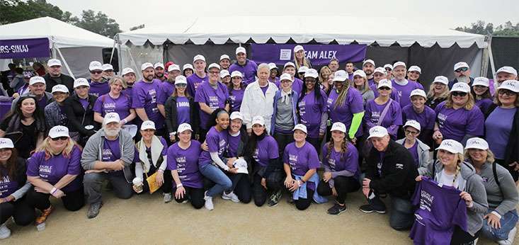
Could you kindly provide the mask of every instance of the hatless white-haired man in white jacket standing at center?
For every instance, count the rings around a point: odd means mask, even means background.
[[[268,81],[270,68],[268,64],[258,66],[258,79],[249,84],[244,92],[244,99],[241,102],[240,113],[244,116],[244,124],[249,135],[252,130],[252,118],[261,115],[265,119],[267,132],[270,133],[270,119],[274,111],[274,96],[278,91],[275,84]]]

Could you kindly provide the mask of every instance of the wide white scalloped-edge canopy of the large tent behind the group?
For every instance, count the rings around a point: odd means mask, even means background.
[[[194,20],[176,20],[164,26],[150,26],[118,34],[122,44],[162,45],[169,40],[182,45],[190,40],[195,45],[204,45],[211,40],[217,45],[232,41],[266,43],[272,38],[276,43],[286,43],[292,38],[297,43],[315,40],[328,44],[370,45],[377,42],[382,47],[397,42],[401,47],[410,47],[418,42],[422,47],[438,43],[451,47],[455,43],[462,48],[474,43],[486,47],[484,35],[463,33],[457,30],[438,28],[433,25],[403,22],[396,18],[358,18],[352,16],[203,16]]]

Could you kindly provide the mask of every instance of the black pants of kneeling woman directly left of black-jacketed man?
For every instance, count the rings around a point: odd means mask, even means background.
[[[337,176],[333,178],[333,186],[337,191],[337,203],[344,204],[346,195],[348,195],[348,193],[357,191],[360,188],[360,183],[353,177]],[[329,183],[326,183],[323,180],[319,181],[319,186],[317,186],[317,193],[323,196],[332,195]]]

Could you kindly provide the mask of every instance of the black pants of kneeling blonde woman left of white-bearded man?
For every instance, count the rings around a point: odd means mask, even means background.
[[[38,210],[46,210],[50,207],[50,194],[39,193],[34,190],[34,187],[30,188],[27,192],[27,202],[30,207],[38,208]],[[65,192],[65,195],[60,198],[65,209],[69,211],[80,210],[85,205],[85,195],[83,188],[78,190]]]

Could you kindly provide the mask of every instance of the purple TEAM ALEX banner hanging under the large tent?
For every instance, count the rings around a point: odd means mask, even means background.
[[[366,45],[302,45],[304,56],[313,65],[329,64],[330,59],[339,62],[361,62],[366,55]],[[295,44],[251,44],[252,59],[256,63],[273,62],[283,65],[294,60]]]

